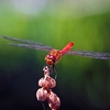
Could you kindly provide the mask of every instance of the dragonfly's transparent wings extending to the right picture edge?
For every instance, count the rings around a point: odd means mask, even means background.
[[[97,52],[85,52],[85,51],[69,51],[68,55],[80,55],[85,57],[99,58],[99,59],[110,59],[109,53],[97,53]]]

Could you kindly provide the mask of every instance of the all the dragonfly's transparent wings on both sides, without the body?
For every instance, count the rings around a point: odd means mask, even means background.
[[[32,50],[41,50],[41,51],[51,51],[53,50],[51,46],[44,45],[38,42],[32,42],[28,40],[20,40],[16,37],[9,37],[9,36],[0,36],[10,41],[19,42],[21,44],[15,43],[9,43],[12,46],[19,46],[19,47],[25,47],[25,48],[32,48]],[[91,58],[99,58],[99,59],[110,59],[109,53],[98,53],[98,52],[85,52],[85,51],[69,51],[65,54],[68,55],[80,55],[85,57],[91,57]]]

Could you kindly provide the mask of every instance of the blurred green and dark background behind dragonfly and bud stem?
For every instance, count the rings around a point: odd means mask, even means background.
[[[0,35],[110,53],[110,0],[0,0]],[[9,42],[0,38],[0,110],[43,110],[35,92],[47,52]],[[56,66],[59,110],[110,110],[110,61],[65,55]]]

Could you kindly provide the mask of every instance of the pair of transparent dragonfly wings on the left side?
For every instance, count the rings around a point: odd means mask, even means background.
[[[9,43],[11,46],[18,46],[18,47],[25,47],[25,48],[32,48],[32,50],[41,50],[41,51],[51,51],[53,50],[51,46],[44,45],[40,42],[33,42],[28,40],[20,40],[16,37],[9,37],[9,36],[0,36],[9,41],[19,42],[21,44],[15,43]]]

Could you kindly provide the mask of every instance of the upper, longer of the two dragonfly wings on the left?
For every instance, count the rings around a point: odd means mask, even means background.
[[[52,48],[51,46],[47,46],[47,45],[44,45],[40,42],[34,42],[34,41],[29,41],[29,40],[20,40],[20,38],[16,38],[16,37],[9,37],[9,36],[3,36],[3,35],[0,35],[0,37],[3,37],[6,40],[9,40],[9,41],[14,41],[14,42],[19,42],[19,43],[22,43],[22,44],[29,44],[29,45],[38,45],[38,46],[46,46],[47,48]]]

